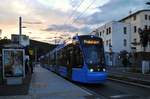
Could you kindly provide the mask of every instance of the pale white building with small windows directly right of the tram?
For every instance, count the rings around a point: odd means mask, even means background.
[[[118,64],[120,51],[131,51],[130,48],[130,24],[122,22],[109,22],[92,32],[104,41],[107,65]]]

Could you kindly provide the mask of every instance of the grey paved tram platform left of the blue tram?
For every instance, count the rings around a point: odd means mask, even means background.
[[[55,73],[36,66],[28,95],[0,96],[0,99],[86,99],[91,95]]]

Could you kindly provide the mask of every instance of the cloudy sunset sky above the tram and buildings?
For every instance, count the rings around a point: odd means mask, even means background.
[[[63,42],[73,35],[87,35],[110,21],[140,9],[149,0],[0,0],[1,37],[23,34],[47,43]]]

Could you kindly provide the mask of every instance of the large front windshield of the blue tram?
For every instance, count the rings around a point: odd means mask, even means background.
[[[85,62],[87,64],[103,64],[104,52],[101,45],[85,45],[83,50],[85,52]]]

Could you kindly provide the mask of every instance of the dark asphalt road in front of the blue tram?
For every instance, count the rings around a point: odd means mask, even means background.
[[[104,85],[77,84],[93,95],[90,99],[150,99],[150,89],[108,80]]]

